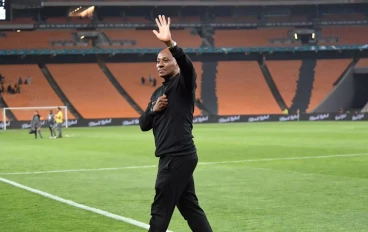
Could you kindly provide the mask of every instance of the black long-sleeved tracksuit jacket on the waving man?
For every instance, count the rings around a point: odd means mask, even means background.
[[[147,109],[139,118],[142,131],[153,129],[157,157],[190,155],[196,152],[192,129],[197,74],[182,48],[175,46],[170,51],[178,63],[180,73],[163,82],[153,92]],[[163,94],[168,99],[167,108],[153,113],[153,106]]]

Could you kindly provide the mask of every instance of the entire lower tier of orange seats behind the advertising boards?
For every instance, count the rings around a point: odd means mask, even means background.
[[[197,71],[197,99],[207,99],[203,92],[202,62],[193,62]],[[334,83],[351,63],[351,59],[266,61],[277,91],[288,108],[306,112],[313,110],[331,93]],[[357,67],[367,67],[367,59],[362,59]],[[49,64],[52,78],[60,86],[72,106],[83,118],[134,118],[139,113],[122,96],[117,88],[101,71],[98,64]],[[118,83],[127,94],[145,110],[150,97],[162,79],[157,76],[153,62],[107,63]],[[32,77],[31,84],[23,84],[20,94],[3,94],[3,100],[11,107],[36,107],[66,105],[49,85],[37,65],[1,65],[1,74],[6,77],[5,87],[13,86],[23,77]],[[277,104],[269,84],[256,61],[220,61],[214,77],[219,115],[237,114],[278,114],[282,108]],[[156,81],[149,82],[148,76]],[[145,78],[143,84],[141,78]],[[308,87],[309,86],[309,87]],[[306,91],[306,88],[310,90]],[[30,112],[14,111],[18,120],[30,118]],[[203,112],[195,106],[194,115]],[[75,118],[69,113],[71,119]]]

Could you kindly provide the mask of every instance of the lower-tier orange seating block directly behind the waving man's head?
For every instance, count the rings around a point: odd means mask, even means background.
[[[201,96],[201,78],[202,64],[200,62],[193,63],[197,71],[197,89],[196,96]],[[161,85],[163,79],[157,76],[155,64],[149,63],[107,63],[107,67],[113,73],[115,78],[128,92],[128,94],[137,102],[144,110],[147,108],[147,103],[153,91]],[[157,86],[152,87],[152,83],[148,82],[148,75],[151,74],[157,81]],[[141,78],[144,77],[146,82],[141,84]],[[200,115],[200,110],[195,107],[194,115]]]

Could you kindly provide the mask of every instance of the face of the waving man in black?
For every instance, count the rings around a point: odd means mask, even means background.
[[[165,49],[158,54],[156,67],[158,75],[162,78],[165,78],[172,77],[176,74],[178,64],[176,63],[176,60],[172,56],[171,52]]]

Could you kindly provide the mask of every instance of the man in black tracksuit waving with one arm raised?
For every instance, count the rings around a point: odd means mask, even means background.
[[[165,81],[139,119],[142,131],[153,129],[155,155],[160,158],[149,231],[166,231],[177,206],[192,231],[211,232],[193,179],[198,163],[192,136],[196,73],[189,57],[171,39],[170,18],[166,22],[159,15],[156,23],[159,32],[154,34],[168,47],[157,57],[159,76]]]

